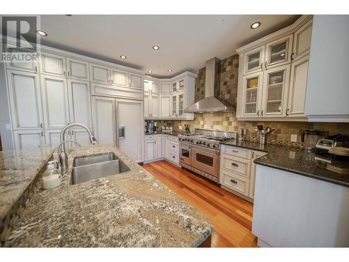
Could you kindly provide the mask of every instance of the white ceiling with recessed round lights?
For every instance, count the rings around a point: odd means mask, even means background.
[[[211,57],[292,24],[299,15],[42,15],[41,43],[105,59],[157,77],[196,73]],[[262,22],[250,29],[253,22]],[[153,45],[160,49],[154,51]],[[121,59],[120,55],[127,59]],[[168,73],[171,68],[172,73]]]

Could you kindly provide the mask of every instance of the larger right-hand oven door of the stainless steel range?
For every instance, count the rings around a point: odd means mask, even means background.
[[[209,150],[191,148],[191,166],[218,177],[219,175],[219,154]]]

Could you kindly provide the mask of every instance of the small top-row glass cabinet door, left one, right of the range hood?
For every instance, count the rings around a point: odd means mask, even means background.
[[[262,71],[265,47],[255,48],[244,54],[244,75]]]

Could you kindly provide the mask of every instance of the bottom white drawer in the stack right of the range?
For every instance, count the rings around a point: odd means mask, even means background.
[[[241,175],[222,170],[221,171],[221,184],[225,187],[229,187],[235,191],[238,191],[245,196],[248,196],[248,191],[250,188],[250,180]]]

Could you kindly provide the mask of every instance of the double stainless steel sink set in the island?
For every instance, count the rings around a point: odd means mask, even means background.
[[[71,173],[71,184],[96,180],[101,177],[116,175],[129,170],[130,168],[128,168],[114,152],[75,157]]]

